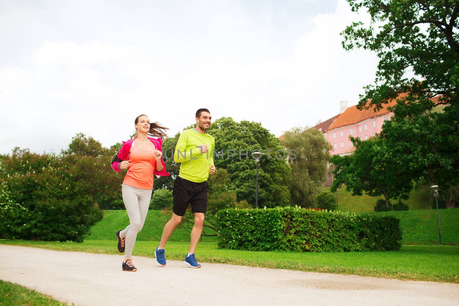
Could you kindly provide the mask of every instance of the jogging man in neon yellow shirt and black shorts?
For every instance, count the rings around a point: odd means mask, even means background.
[[[174,180],[174,207],[172,217],[164,226],[161,242],[155,250],[156,261],[166,265],[164,246],[174,229],[182,221],[186,208],[191,204],[195,224],[191,230],[190,249],[183,263],[191,268],[200,268],[195,258],[195,249],[202,233],[204,215],[207,210],[207,178],[215,172],[213,149],[215,139],[207,133],[212,117],[207,108],[196,111],[196,127],[180,134],[174,152],[174,161],[180,162],[179,176]]]

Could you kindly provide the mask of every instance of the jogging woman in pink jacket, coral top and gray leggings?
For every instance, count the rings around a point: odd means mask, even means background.
[[[124,253],[123,271],[135,272],[137,269],[132,263],[137,233],[144,223],[148,207],[150,206],[153,177],[169,176],[162,161],[162,139],[166,137],[165,130],[157,122],[150,123],[146,115],[135,118],[134,139],[123,141],[123,146],[112,161],[112,168],[116,172],[128,169],[124,177],[122,192],[123,202],[129,216],[129,225],[116,232],[118,251]],[[140,137],[139,137],[140,136]],[[157,137],[157,139],[151,138]]]

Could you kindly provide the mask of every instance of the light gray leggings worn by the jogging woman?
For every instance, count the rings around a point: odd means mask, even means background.
[[[129,216],[129,225],[119,235],[126,237],[124,258],[132,258],[137,233],[143,228],[148,207],[150,207],[151,189],[140,189],[123,184],[123,201]]]

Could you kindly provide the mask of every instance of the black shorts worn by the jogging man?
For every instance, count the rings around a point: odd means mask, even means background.
[[[177,216],[185,215],[188,204],[191,203],[191,212],[207,211],[207,181],[201,183],[191,182],[179,176],[174,180],[174,207],[172,210]]]

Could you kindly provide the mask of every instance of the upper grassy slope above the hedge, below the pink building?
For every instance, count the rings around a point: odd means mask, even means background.
[[[325,190],[330,190],[330,187],[325,188]],[[346,190],[346,186],[342,186],[338,191],[338,209],[340,211],[375,211],[373,207],[376,205],[376,200],[382,199],[382,197],[371,197],[366,194],[362,196],[352,196],[351,193],[352,192]],[[433,199],[432,191],[429,188],[423,187],[419,191],[411,190],[409,199],[403,200],[403,203],[407,204],[410,210],[431,209]]]

